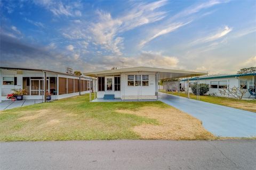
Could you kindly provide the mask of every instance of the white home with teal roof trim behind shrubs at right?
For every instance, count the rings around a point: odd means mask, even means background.
[[[243,87],[247,90],[246,94],[243,98],[255,98],[252,94],[255,94],[255,77],[256,73],[247,73],[247,74],[228,74],[228,75],[211,75],[211,76],[204,76],[200,77],[200,83],[209,84],[210,90],[207,94],[215,94],[217,96],[221,96],[220,89],[221,88],[233,88],[233,87]],[[185,91],[189,89],[191,91],[191,86],[196,83],[196,78],[189,79],[189,87],[187,83],[187,79],[184,79],[179,82],[180,89],[183,88]],[[223,97],[230,97],[230,96],[223,96]]]

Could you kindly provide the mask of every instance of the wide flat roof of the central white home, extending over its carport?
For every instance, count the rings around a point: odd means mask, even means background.
[[[101,76],[111,76],[111,75],[118,75],[121,73],[129,73],[129,72],[152,72],[152,73],[159,73],[159,80],[164,79],[173,79],[173,78],[188,78],[188,77],[195,77],[197,75],[206,75],[205,72],[196,72],[196,71],[189,71],[189,70],[172,70],[172,69],[160,69],[155,67],[129,67],[125,69],[115,69],[115,70],[103,70],[103,71],[95,71],[84,73],[84,75],[90,77],[101,77]]]

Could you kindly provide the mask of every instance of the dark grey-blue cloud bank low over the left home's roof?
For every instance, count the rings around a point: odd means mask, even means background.
[[[82,72],[99,69],[98,65],[82,60],[79,54],[68,55],[36,45],[28,45],[16,38],[0,34],[0,65],[65,72],[66,67]],[[28,64],[29,63],[29,64]]]

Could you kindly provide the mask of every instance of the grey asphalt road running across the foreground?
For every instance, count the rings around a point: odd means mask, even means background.
[[[1,142],[0,169],[256,169],[256,140]]]

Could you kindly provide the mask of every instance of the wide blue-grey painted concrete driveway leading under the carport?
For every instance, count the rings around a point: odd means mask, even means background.
[[[206,130],[221,137],[256,136],[256,113],[159,92],[159,100],[203,122]]]

